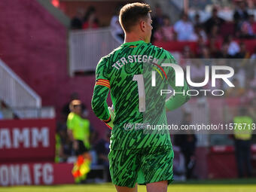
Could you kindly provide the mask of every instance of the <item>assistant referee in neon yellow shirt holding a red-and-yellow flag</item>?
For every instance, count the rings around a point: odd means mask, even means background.
[[[78,99],[70,103],[70,113],[67,120],[69,139],[72,140],[75,155],[78,157],[72,169],[76,182],[86,178],[90,172],[90,121],[81,117],[81,101]]]

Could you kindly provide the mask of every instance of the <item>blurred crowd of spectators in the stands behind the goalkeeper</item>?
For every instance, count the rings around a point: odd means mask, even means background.
[[[191,62],[188,59],[237,59],[228,64],[235,70],[231,81],[235,88],[229,88],[219,82],[218,88],[227,90],[225,96],[241,97],[242,101],[250,102],[256,96],[256,23],[254,15],[249,14],[248,3],[238,1],[233,11],[233,21],[226,21],[219,17],[218,8],[212,6],[211,16],[202,22],[200,12],[193,18],[182,13],[178,21],[172,23],[169,15],[164,14],[160,5],[155,5],[152,11],[152,43],[166,42],[170,47],[175,47],[179,42],[181,47],[178,63],[185,67],[190,65],[191,80],[202,82],[204,80],[205,63]],[[118,21],[118,13],[122,5],[117,5],[111,17],[110,26],[113,37],[123,42],[123,30]],[[72,19],[72,29],[96,29],[99,25],[96,8],[90,6],[84,13],[78,10]],[[255,40],[254,40],[255,39]],[[192,43],[193,45],[191,45]],[[248,49],[248,43],[254,46]],[[255,44],[254,44],[255,43]],[[173,44],[173,46],[172,46]],[[172,52],[172,51],[171,51]],[[207,87],[207,86],[206,86]],[[208,87],[211,87],[208,85]]]

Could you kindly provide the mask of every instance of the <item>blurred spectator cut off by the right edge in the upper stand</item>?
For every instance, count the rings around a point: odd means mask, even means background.
[[[242,22],[239,38],[255,38],[254,35],[254,15],[249,16],[249,20]]]

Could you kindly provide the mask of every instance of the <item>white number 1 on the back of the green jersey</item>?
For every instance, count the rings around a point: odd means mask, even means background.
[[[138,92],[139,92],[139,111],[144,112],[146,109],[146,99],[145,99],[145,86],[143,75],[134,75],[133,81],[137,81]]]

